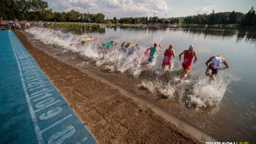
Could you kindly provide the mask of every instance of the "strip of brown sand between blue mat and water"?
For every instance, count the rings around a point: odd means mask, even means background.
[[[35,48],[14,31],[98,143],[202,143],[120,90]]]

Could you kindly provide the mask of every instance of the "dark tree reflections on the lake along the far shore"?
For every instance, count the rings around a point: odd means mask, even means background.
[[[76,35],[82,35],[83,33],[100,33],[104,34],[106,33],[106,30],[114,29],[114,31],[117,31],[117,29],[123,29],[123,30],[129,30],[129,31],[144,31],[146,33],[151,33],[154,35],[154,32],[156,31],[181,31],[182,33],[186,33],[189,35],[203,35],[205,38],[207,36],[217,36],[217,37],[233,37],[236,36],[236,43],[239,41],[242,41],[242,39],[245,38],[245,41],[248,42],[254,42],[256,39],[255,35],[255,29],[253,27],[171,27],[171,28],[158,28],[158,27],[137,27],[137,26],[112,26],[112,27],[77,27],[77,28],[64,28],[61,29],[62,31],[65,31],[66,33],[73,31]]]

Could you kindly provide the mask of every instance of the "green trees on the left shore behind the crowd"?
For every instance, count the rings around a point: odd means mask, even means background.
[[[47,1],[42,0],[1,0],[0,17],[3,20],[28,21],[68,21],[68,22],[104,22],[104,14],[87,14],[75,10],[69,12],[53,12]]]

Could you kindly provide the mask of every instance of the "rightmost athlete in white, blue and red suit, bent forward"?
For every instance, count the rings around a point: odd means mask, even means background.
[[[221,67],[222,63],[224,63],[226,67],[220,69],[219,67]],[[211,58],[209,58],[209,60],[207,60],[205,64],[207,65],[205,75],[210,77],[210,83],[217,81],[216,76],[218,74],[219,69],[222,70],[229,68],[228,63],[221,56],[212,56]]]

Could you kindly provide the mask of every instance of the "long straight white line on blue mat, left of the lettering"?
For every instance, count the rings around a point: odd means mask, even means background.
[[[10,37],[10,33],[9,33],[9,38],[10,38],[10,41],[11,41],[11,44],[12,44],[12,39]],[[12,49],[13,49],[16,61],[18,63],[18,69],[20,71],[20,78],[21,78],[22,85],[23,85],[23,90],[24,90],[24,93],[25,93],[25,96],[26,96],[26,99],[27,99],[28,107],[30,108],[30,115],[32,117],[33,125],[35,126],[35,134],[37,135],[37,141],[38,141],[39,144],[43,144],[44,143],[43,142],[43,137],[42,137],[42,134],[40,133],[37,118],[35,117],[35,113],[33,113],[33,107],[32,107],[31,101],[30,101],[30,97],[28,96],[28,91],[27,91],[27,88],[26,88],[26,84],[24,82],[24,78],[23,78],[23,75],[22,75],[22,70],[20,68],[20,63],[18,62],[18,58],[16,56],[16,52],[14,50],[13,45],[12,45]]]

